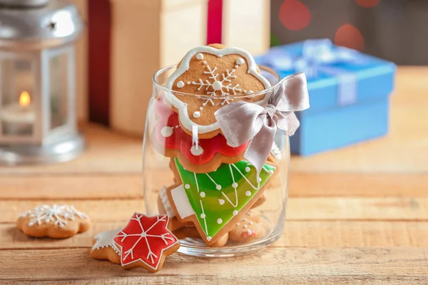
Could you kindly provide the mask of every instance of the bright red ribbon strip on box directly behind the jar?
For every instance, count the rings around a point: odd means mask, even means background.
[[[208,1],[207,44],[221,43],[223,29],[223,0]]]

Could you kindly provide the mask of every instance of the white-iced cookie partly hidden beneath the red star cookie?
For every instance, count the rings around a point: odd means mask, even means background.
[[[121,251],[115,242],[113,242],[113,238],[116,237],[118,232],[121,232],[121,229],[113,229],[97,234],[93,238],[93,245],[90,252],[91,257],[121,264]]]

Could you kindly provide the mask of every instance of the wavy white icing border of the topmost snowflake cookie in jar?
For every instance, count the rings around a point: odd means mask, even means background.
[[[199,46],[197,48],[193,48],[190,50],[183,58],[183,61],[181,62],[180,66],[177,68],[176,71],[173,72],[173,74],[168,78],[168,81],[165,84],[165,88],[172,89],[173,83],[175,80],[180,77],[185,71],[188,71],[190,59],[195,56],[197,53],[210,53],[215,56],[221,57],[228,54],[238,54],[245,58],[245,60],[248,63],[248,73],[255,76],[255,78],[258,78],[259,81],[263,83],[265,88],[270,88],[270,83],[267,81],[266,78],[260,75],[257,71],[257,65],[254,61],[253,56],[250,55],[247,51],[244,51],[240,48],[223,48],[223,49],[217,49],[210,46]],[[241,58],[243,60],[243,58]],[[205,63],[205,61],[204,61]],[[195,125],[195,123],[190,120],[190,117],[188,115],[187,111],[187,104],[179,100],[178,98],[173,95],[173,93],[165,92],[165,98],[168,100],[170,104],[172,104],[175,108],[178,109],[178,113],[180,116],[180,122],[183,125],[183,128],[191,131],[192,126]],[[269,100],[269,96],[265,95],[263,100],[260,100],[258,102],[259,105],[265,105],[267,101]],[[220,125],[218,122],[215,122],[211,125],[198,125],[198,132],[199,133],[210,133],[213,130],[218,130],[220,128]]]

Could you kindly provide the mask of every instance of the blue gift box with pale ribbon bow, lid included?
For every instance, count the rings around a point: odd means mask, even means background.
[[[296,113],[300,128],[290,138],[292,153],[312,155],[387,134],[394,63],[328,39],[276,46],[255,60],[281,78],[300,71],[307,76],[310,108]]]

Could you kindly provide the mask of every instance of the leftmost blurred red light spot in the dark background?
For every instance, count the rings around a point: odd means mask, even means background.
[[[311,19],[309,9],[297,0],[285,0],[280,7],[280,21],[285,28],[292,31],[305,28]]]

